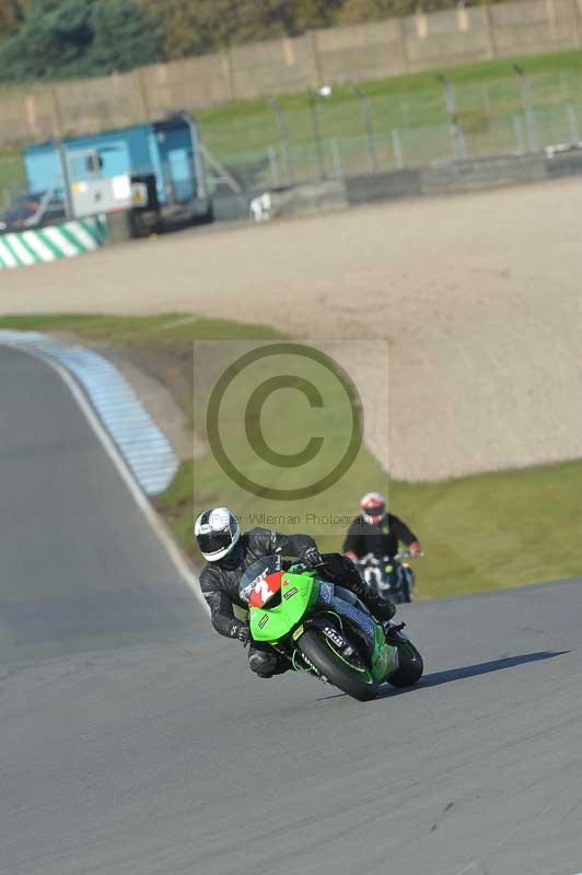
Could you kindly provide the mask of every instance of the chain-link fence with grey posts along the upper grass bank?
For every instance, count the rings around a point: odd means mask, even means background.
[[[326,96],[323,96],[326,95]],[[582,74],[552,71],[416,92],[321,89],[202,122],[207,147],[245,191],[524,154],[582,137]]]

